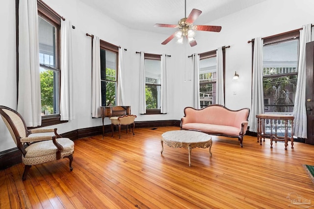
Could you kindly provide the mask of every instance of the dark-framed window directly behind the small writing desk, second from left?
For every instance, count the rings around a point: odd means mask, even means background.
[[[102,106],[115,106],[119,47],[100,40]]]

